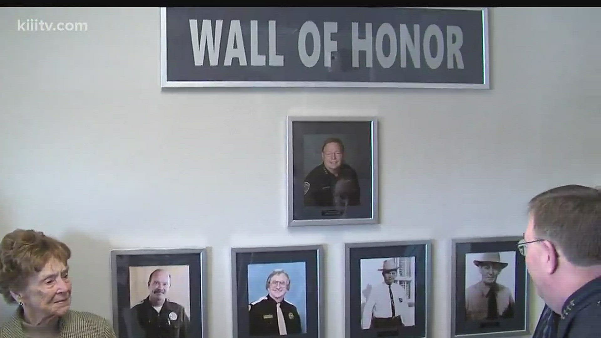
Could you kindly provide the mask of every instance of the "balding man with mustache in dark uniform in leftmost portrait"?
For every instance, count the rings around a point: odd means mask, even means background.
[[[156,269],[148,277],[148,297],[132,307],[129,338],[186,338],[190,319],[180,304],[167,300],[171,275]]]

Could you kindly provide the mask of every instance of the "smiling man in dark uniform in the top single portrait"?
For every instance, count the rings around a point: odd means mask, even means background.
[[[358,206],[359,180],[356,171],[344,163],[344,145],[340,139],[328,138],[323,143],[322,160],[305,177],[305,206]]]

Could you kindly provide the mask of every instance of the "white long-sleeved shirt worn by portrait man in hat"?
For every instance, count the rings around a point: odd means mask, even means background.
[[[388,285],[382,282],[371,289],[370,296],[365,302],[361,318],[361,327],[364,330],[370,328],[372,316],[376,318],[392,318],[390,290],[392,290],[392,300],[394,301],[394,316],[401,316],[403,323],[407,322],[408,318],[406,316],[409,312],[409,304],[407,304],[405,289],[397,283]]]

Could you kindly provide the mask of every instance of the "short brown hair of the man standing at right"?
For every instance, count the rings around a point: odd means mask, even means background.
[[[601,190],[582,185],[558,186],[528,203],[534,235],[561,248],[578,266],[601,265]]]

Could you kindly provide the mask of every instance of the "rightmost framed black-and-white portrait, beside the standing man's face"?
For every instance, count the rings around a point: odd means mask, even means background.
[[[451,337],[529,334],[521,236],[453,239]]]

